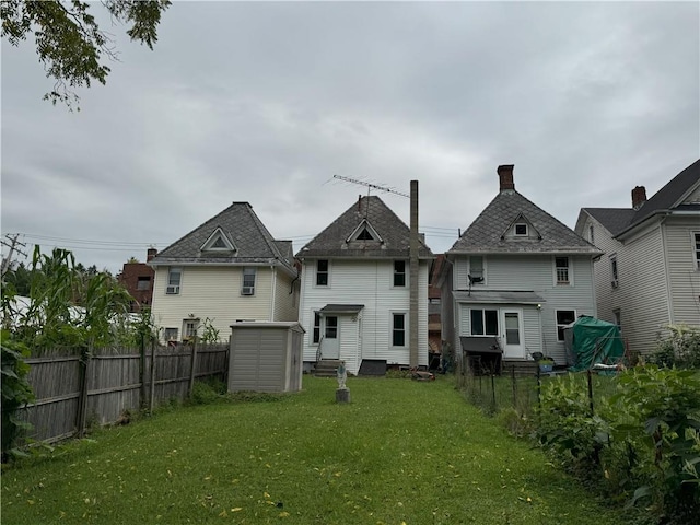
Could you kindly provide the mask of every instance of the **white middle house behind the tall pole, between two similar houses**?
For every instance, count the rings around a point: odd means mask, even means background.
[[[409,228],[375,196],[361,197],[296,257],[302,264],[300,320],[304,362],[363,360],[409,365]],[[419,242],[418,364],[428,365],[428,272]]]

